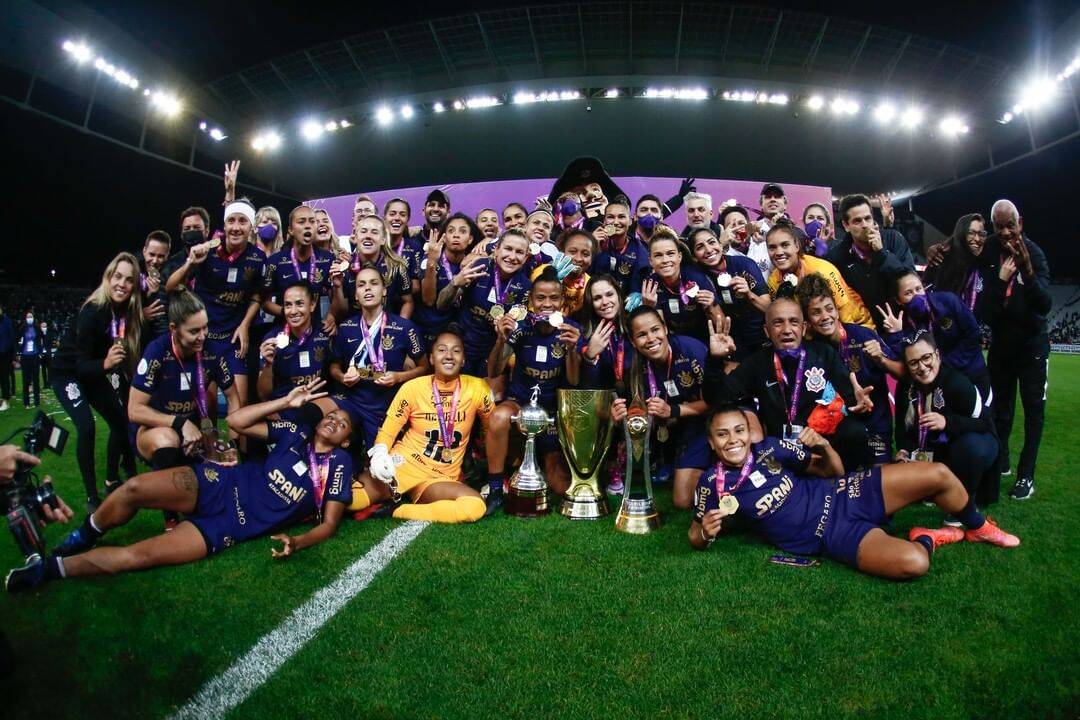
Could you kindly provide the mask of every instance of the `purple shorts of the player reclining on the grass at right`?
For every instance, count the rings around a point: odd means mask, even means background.
[[[849,473],[836,480],[826,502],[832,503],[822,538],[823,555],[856,568],[859,543],[875,528],[889,525],[881,493],[881,468]]]

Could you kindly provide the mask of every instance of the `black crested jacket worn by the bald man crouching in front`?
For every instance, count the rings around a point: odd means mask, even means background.
[[[833,384],[846,405],[855,404],[855,392],[848,377],[848,368],[836,350],[820,342],[804,342],[802,347],[807,350],[807,363],[804,377],[799,379],[802,390],[795,413],[795,423],[798,425],[807,424],[815,402],[822,397],[824,383],[820,382],[820,378]],[[742,404],[757,398],[758,415],[766,435],[783,437],[791,393],[780,388],[772,357],[772,348],[759,350],[744,359],[731,375],[726,375],[724,362],[710,355],[705,363],[703,394],[710,405]],[[797,359],[784,361],[783,367],[788,380],[795,372],[797,363]]]

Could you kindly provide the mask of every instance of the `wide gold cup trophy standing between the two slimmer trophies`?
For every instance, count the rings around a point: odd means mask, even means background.
[[[604,456],[611,446],[613,390],[559,390],[556,426],[563,454],[570,465],[570,489],[559,512],[571,520],[607,515],[607,499],[596,481]]]

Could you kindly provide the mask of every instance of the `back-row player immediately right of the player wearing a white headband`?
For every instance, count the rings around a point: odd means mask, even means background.
[[[345,316],[348,308],[343,298],[330,293],[330,266],[335,256],[328,250],[314,247],[315,212],[307,205],[299,205],[288,214],[289,243],[281,252],[271,255],[266,262],[267,271],[262,284],[262,309],[274,317],[282,316],[279,304],[285,288],[297,281],[311,285],[318,301],[325,295],[332,296],[330,312],[325,317],[315,313],[315,323],[333,332],[337,326],[336,316]]]

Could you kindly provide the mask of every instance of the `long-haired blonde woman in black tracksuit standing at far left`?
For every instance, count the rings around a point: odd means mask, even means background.
[[[100,504],[92,409],[109,426],[106,490],[120,484],[121,460],[127,476],[135,475],[125,406],[132,358],[139,357],[141,314],[138,261],[121,253],[106,268],[100,286],[64,328],[53,357],[52,389],[75,423],[76,457],[90,512]]]

